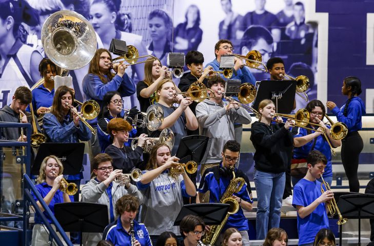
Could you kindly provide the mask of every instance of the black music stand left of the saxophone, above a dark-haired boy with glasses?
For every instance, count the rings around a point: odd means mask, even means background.
[[[226,203],[194,203],[182,207],[174,221],[174,226],[179,226],[182,219],[189,214],[201,217],[207,225],[221,224],[229,211],[230,205]]]

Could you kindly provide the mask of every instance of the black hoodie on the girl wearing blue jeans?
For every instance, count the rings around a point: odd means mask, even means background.
[[[256,170],[267,173],[286,171],[293,147],[289,130],[279,124],[268,126],[257,121],[252,124],[250,139],[256,150],[253,157]]]

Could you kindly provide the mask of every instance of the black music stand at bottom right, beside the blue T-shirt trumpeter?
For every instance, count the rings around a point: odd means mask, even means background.
[[[359,242],[361,245],[361,219],[374,218],[374,194],[351,194],[340,196],[340,213],[345,218],[359,219]]]

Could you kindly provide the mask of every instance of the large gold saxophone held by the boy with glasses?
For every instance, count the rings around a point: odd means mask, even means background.
[[[223,193],[220,202],[226,203],[230,205],[230,208],[223,219],[222,223],[219,225],[214,225],[210,227],[210,231],[205,234],[205,237],[202,239],[202,242],[206,245],[214,245],[215,241],[217,240],[218,236],[220,235],[222,228],[225,226],[228,217],[231,214],[235,214],[239,211],[239,203],[237,200],[232,198],[232,194],[239,192],[242,187],[244,186],[245,180],[244,178],[235,178],[234,167],[230,167],[230,172],[232,172],[232,179],[225,191]]]

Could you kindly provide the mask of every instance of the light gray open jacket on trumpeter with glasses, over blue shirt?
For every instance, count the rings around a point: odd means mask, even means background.
[[[132,195],[139,199],[140,204],[143,203],[143,194],[137,189],[136,186],[130,185],[129,189],[124,186],[120,186],[119,183],[112,182],[112,201],[113,201],[113,214],[115,219],[115,203],[124,195]],[[109,207],[109,196],[106,192],[108,187],[104,182],[99,182],[96,179],[91,179],[82,188],[81,201],[94,202],[99,204],[105,204],[108,206],[108,220],[110,221],[110,207]],[[109,222],[110,223],[110,222]],[[83,233],[82,240],[83,245],[96,246],[97,243],[102,240],[103,233]]]

